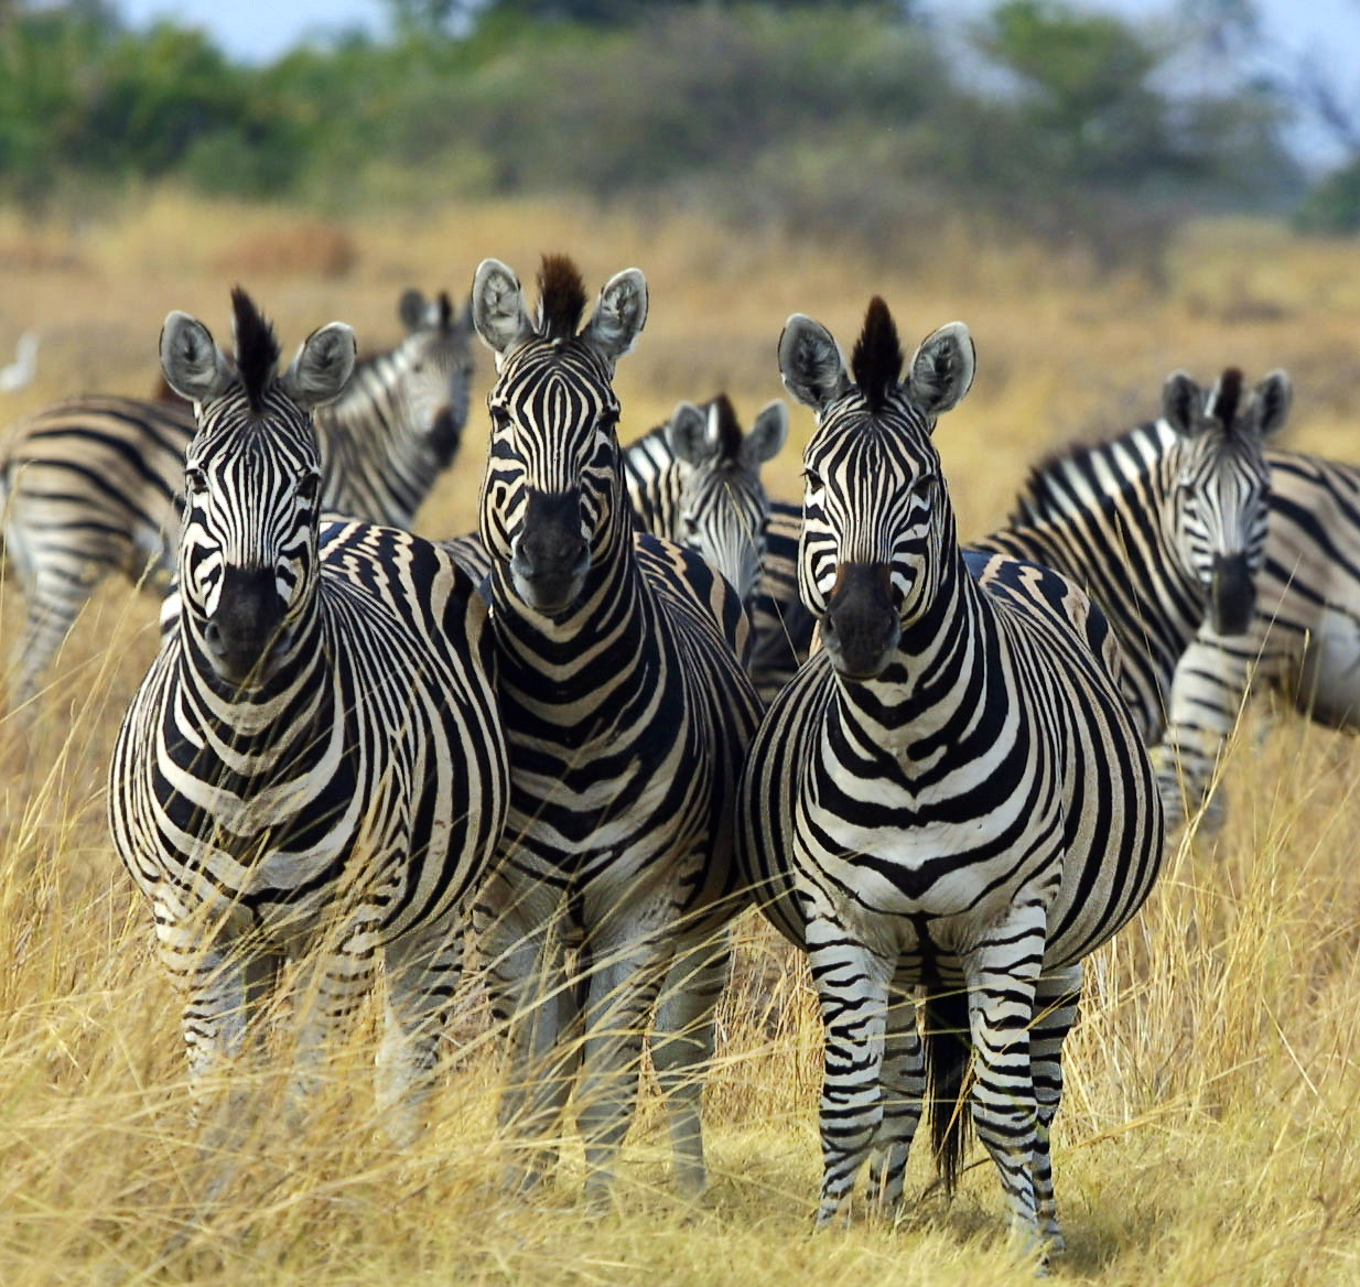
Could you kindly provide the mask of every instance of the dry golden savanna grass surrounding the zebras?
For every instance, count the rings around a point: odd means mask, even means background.
[[[462,294],[487,254],[528,279],[543,250],[577,255],[592,289],[630,264],[647,273],[647,328],[619,367],[624,436],[681,397],[725,387],[749,416],[778,395],[774,345],[792,311],[845,342],[874,291],[908,337],[967,321],[976,383],[937,431],[966,537],[1004,518],[1042,453],[1155,413],[1178,367],[1210,381],[1227,364],[1250,379],[1282,366],[1297,390],[1288,442],[1360,457],[1360,247],[1236,223],[1182,234],[1155,289],[1098,280],[1076,257],[978,247],[952,227],[874,262],[563,205],[318,224],[162,193],[87,223],[0,216],[0,352],[24,329],[42,334],[37,381],[0,413],[83,390],[148,394],[165,313],[194,313],[224,341],[234,281],[288,352],[332,318],[377,348],[397,338],[405,285]],[[426,533],[473,523],[490,370],[483,353]],[[793,425],[775,495],[797,495],[801,408]],[[7,637],[19,610],[7,591]],[[305,1135],[283,1131],[280,1061],[265,1060],[241,1074],[257,1091],[246,1147],[201,1158],[177,1002],[103,824],[107,754],[154,622],[150,599],[107,587],[37,727],[0,724],[0,1283],[1028,1280],[990,1163],[947,1205],[918,1157],[922,1196],[896,1227],[855,1203],[849,1229],[812,1233],[819,1021],[800,965],[755,923],[724,1007],[706,1099],[713,1182],[696,1203],[669,1186],[650,1090],[613,1214],[579,1205],[571,1139],[555,1184],[502,1196],[499,1071],[476,989],[412,1152],[375,1139],[364,1022]],[[1224,783],[1225,828],[1172,848],[1148,908],[1091,964],[1055,1132],[1069,1252],[1054,1282],[1360,1282],[1360,753],[1262,705]]]

